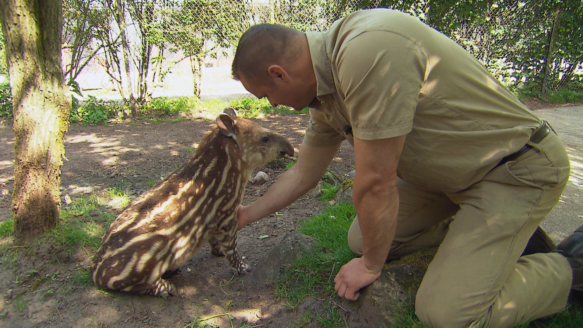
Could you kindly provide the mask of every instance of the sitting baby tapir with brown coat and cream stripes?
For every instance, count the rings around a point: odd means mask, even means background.
[[[285,137],[231,108],[224,110],[194,156],[132,201],[107,229],[93,258],[98,287],[166,297],[164,273],[177,270],[206,242],[239,274],[250,271],[237,253],[237,206],[252,171],[293,156]]]

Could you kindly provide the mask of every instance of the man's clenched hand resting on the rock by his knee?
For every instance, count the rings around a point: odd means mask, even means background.
[[[334,289],[338,296],[346,298],[349,301],[356,301],[360,296],[359,290],[377,280],[381,272],[369,270],[364,266],[362,257],[352,259],[340,268],[336,278],[334,278]]]

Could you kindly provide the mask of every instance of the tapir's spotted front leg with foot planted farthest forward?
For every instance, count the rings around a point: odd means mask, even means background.
[[[224,256],[233,270],[238,274],[251,272],[251,267],[243,263],[243,259],[237,252],[237,219],[232,217],[223,221],[223,224],[215,230],[215,235],[209,240],[210,250],[213,254]]]

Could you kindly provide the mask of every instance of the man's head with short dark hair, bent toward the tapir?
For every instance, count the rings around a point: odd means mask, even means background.
[[[233,78],[272,106],[301,110],[316,96],[308,42],[303,32],[282,25],[251,26],[239,41]]]

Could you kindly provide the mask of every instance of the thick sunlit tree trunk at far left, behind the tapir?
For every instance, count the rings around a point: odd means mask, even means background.
[[[62,1],[0,0],[0,20],[14,103],[14,230],[29,242],[57,226],[61,207],[71,111],[61,68]]]

